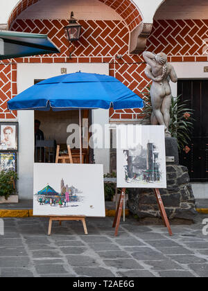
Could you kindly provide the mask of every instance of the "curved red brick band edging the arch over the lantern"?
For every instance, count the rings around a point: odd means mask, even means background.
[[[8,19],[8,28],[10,29],[18,15],[26,10],[29,6],[39,2],[40,0],[21,0],[17,6],[12,10]],[[125,20],[130,31],[139,26],[142,21],[141,13],[137,6],[131,0],[98,0],[110,8],[114,9]]]

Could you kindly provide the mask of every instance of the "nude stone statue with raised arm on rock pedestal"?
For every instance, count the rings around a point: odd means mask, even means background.
[[[151,116],[152,125],[164,125],[166,136],[171,136],[168,131],[170,124],[171,107],[171,86],[172,82],[177,82],[177,75],[171,64],[167,62],[167,56],[164,53],[143,53],[144,60],[147,63],[146,76],[153,80],[150,89],[151,102],[153,105],[153,114]]]

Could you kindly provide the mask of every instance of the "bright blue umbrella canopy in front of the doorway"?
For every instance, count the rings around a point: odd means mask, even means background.
[[[143,100],[114,77],[71,73],[49,78],[8,101],[10,110],[128,109],[144,107]]]

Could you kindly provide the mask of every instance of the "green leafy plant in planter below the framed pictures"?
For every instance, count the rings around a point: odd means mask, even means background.
[[[15,182],[17,181],[17,173],[12,170],[0,172],[0,196],[4,196],[6,200],[10,195],[16,194]]]

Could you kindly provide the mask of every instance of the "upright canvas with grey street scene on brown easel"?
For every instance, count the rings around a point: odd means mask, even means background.
[[[164,126],[117,125],[117,187],[166,188]]]

